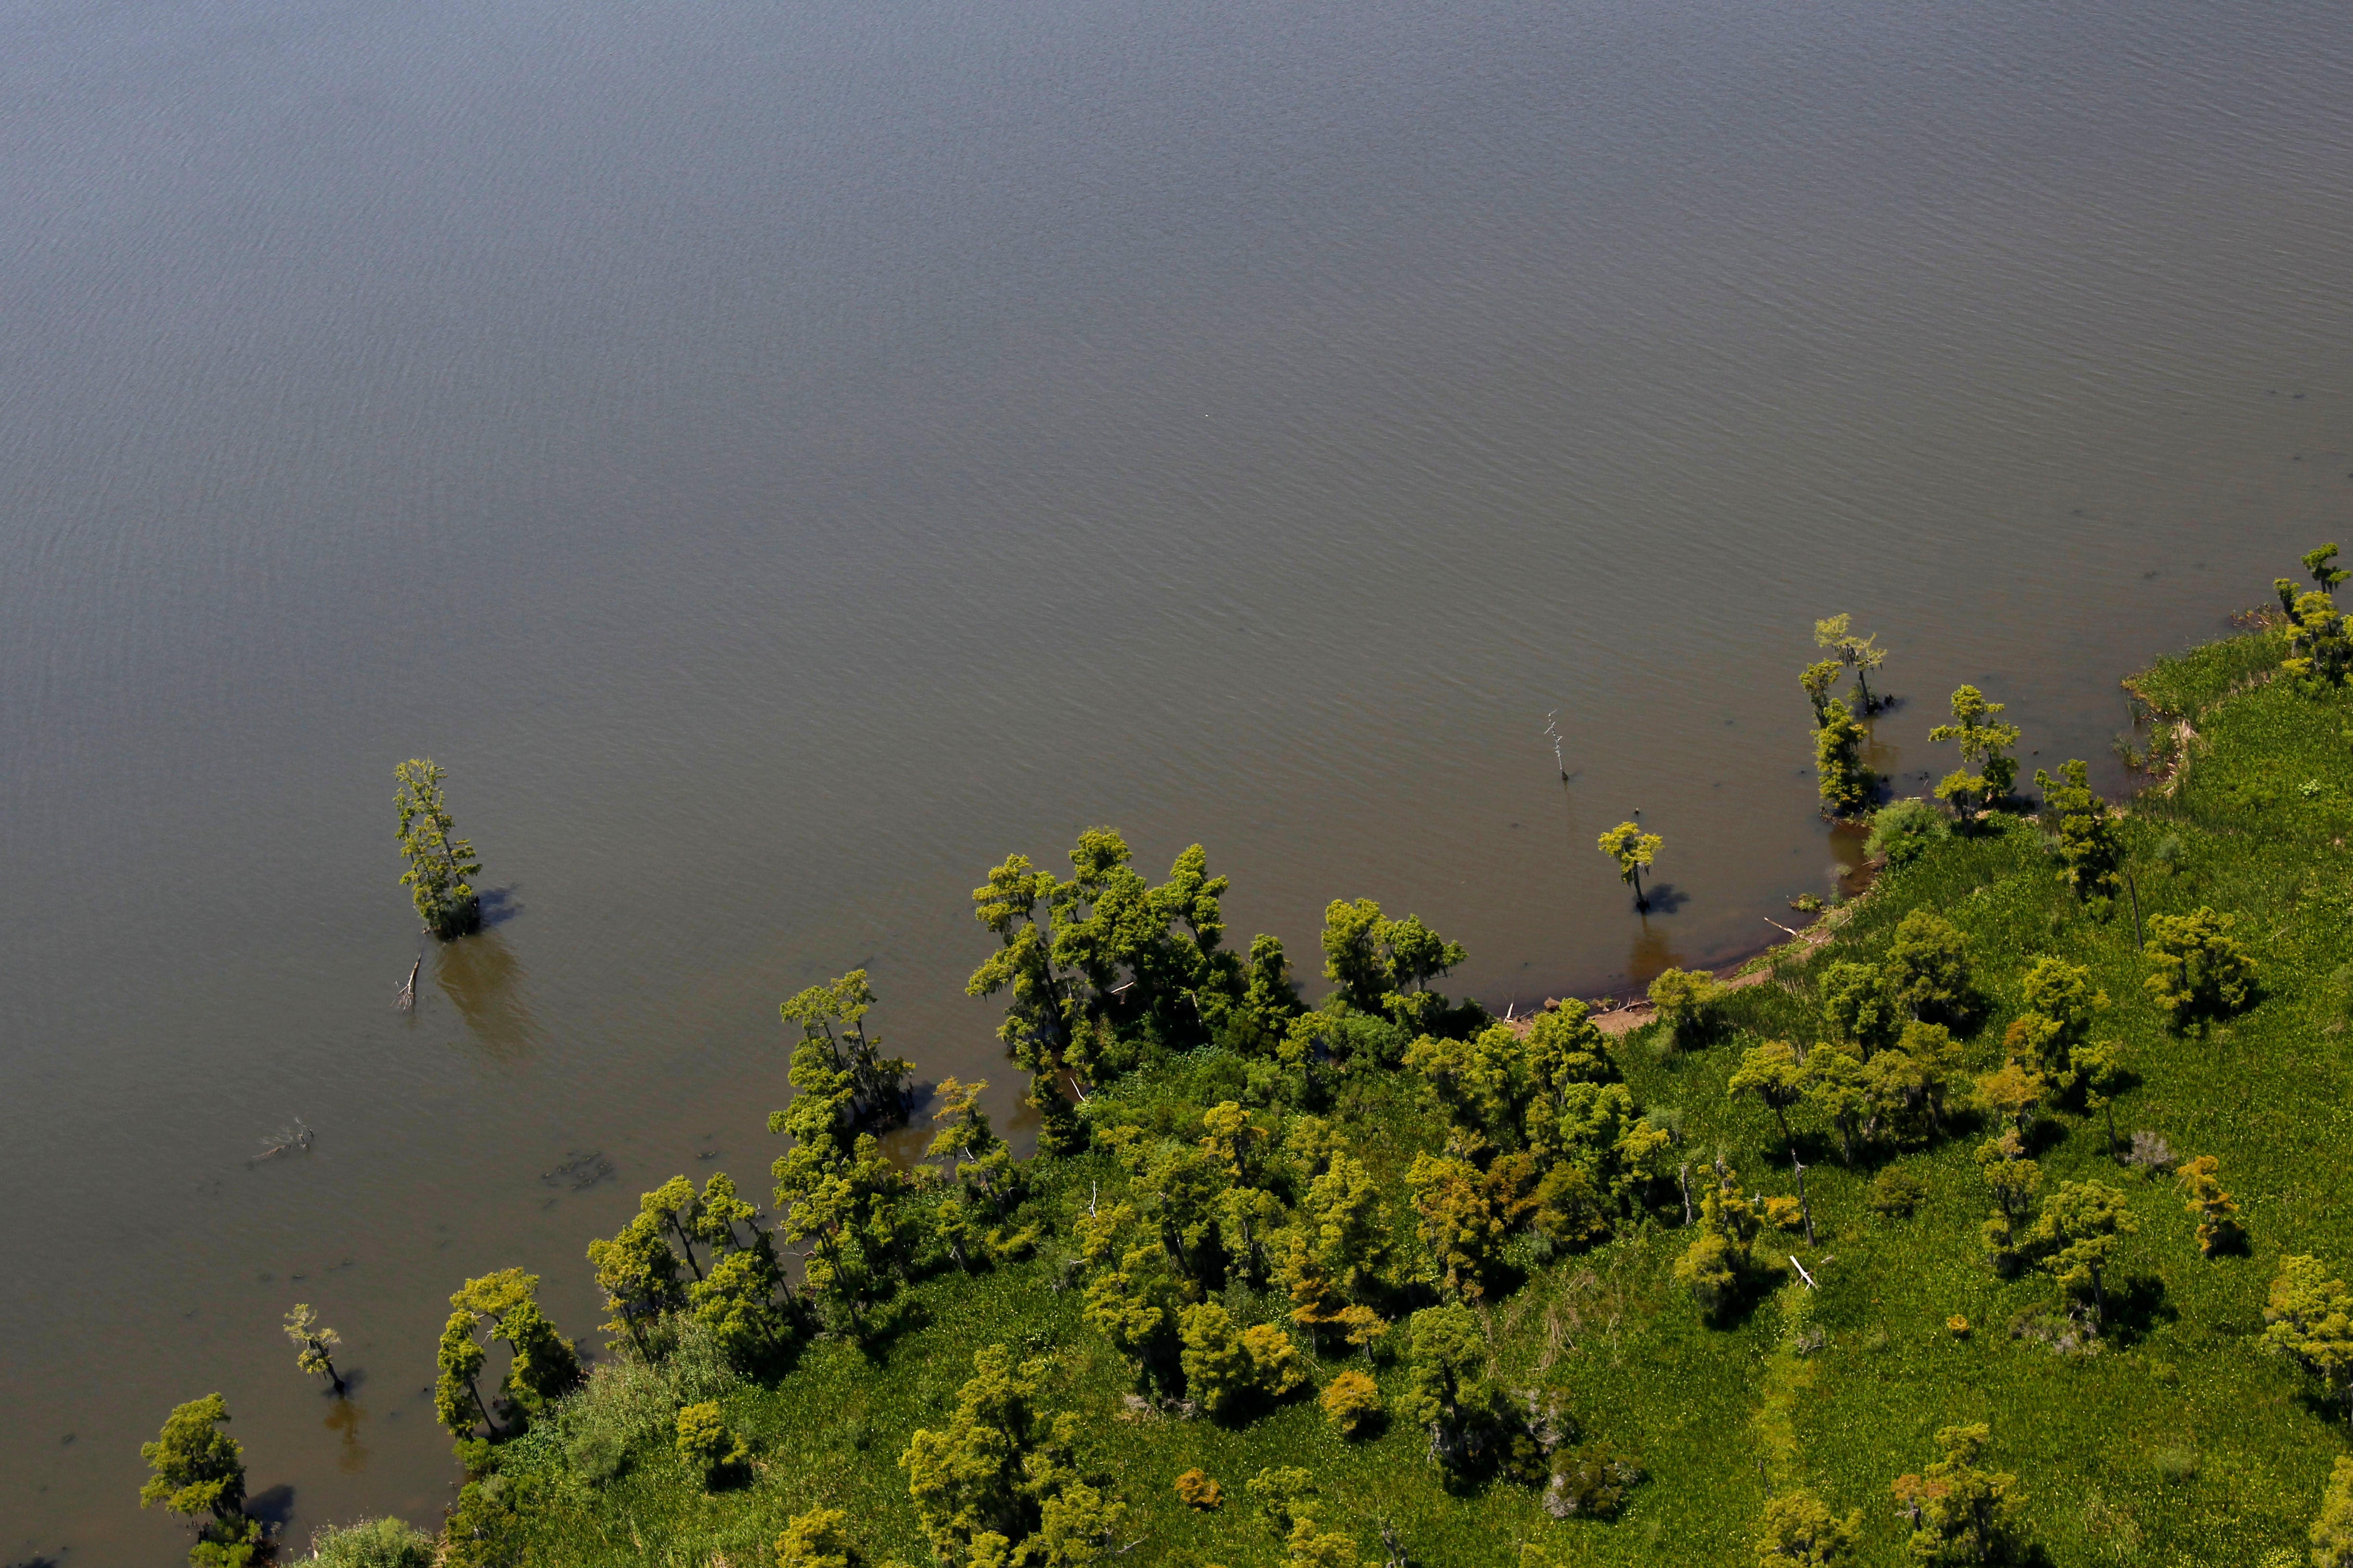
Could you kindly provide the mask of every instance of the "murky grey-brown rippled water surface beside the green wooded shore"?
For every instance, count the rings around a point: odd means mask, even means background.
[[[1007,851],[1200,839],[1240,940],[1374,896],[1497,1009],[1725,959],[1852,858],[1840,609],[1885,769],[1977,682],[2113,785],[2118,677],[2353,534],[2348,71],[2228,0],[12,7],[0,1561],[176,1561],[214,1389],[289,1540],[438,1519],[447,1293],[595,1342],[812,980],[1012,1119]],[[426,752],[499,922],[400,1016]]]

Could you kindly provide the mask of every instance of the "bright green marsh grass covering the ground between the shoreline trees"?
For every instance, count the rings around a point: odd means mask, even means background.
[[[2002,820],[1974,837],[1937,842],[1918,863],[1880,879],[1838,938],[1779,980],[1739,992],[1734,1037],[1678,1056],[1654,1030],[1621,1046],[1626,1077],[1645,1105],[1675,1107],[1687,1157],[1718,1150],[1744,1185],[1791,1192],[1769,1112],[1725,1095],[1744,1044],[1817,1034],[1809,978],[1824,964],[1871,957],[1897,922],[1932,907],[1969,938],[1986,1018],[1969,1037],[1972,1067],[2000,1060],[2000,1032],[2017,1011],[2017,980],[2040,954],[2094,971],[2113,999],[2099,1034],[2120,1037],[2137,1084],[2115,1124],[2165,1135],[2184,1159],[2217,1154],[2224,1185],[2245,1208],[2252,1251],[2200,1258],[2193,1220],[2165,1178],[2113,1164],[2104,1133],[2082,1117],[2054,1117],[2040,1152],[2045,1192],[2101,1178],[2129,1194],[2139,1234],[2113,1272],[2115,1326],[2097,1354],[2061,1356],[2007,1326],[2052,1302],[2040,1274],[1998,1279],[1979,1253],[1988,1213],[1972,1161],[1974,1133],[1901,1154],[1927,1199],[1913,1218],[1868,1208],[1871,1168],[1847,1171],[1819,1128],[1800,1143],[1821,1232],[1819,1293],[1786,1286],[1729,1326],[1706,1326],[1671,1281],[1687,1237],[1680,1211],[1581,1255],[1527,1274],[1485,1307],[1492,1342],[1513,1380],[1565,1380],[1588,1436],[1628,1450],[1647,1472],[1609,1523],[1555,1521],[1539,1493],[1492,1483],[1452,1493],[1424,1458],[1421,1432],[1391,1427],[1367,1443],[1329,1436],[1311,1399],[1242,1427],[1134,1410],[1120,1359],[1078,1316],[1078,1291],[1056,1288],[1059,1248],[981,1276],[934,1276],[911,1288],[920,1326],[880,1349],[809,1347],[774,1385],[725,1394],[729,1420],[753,1439],[755,1481],[704,1495],[664,1441],[640,1441],[619,1476],[591,1483],[565,1462],[553,1427],[506,1453],[511,1476],[539,1476],[513,1537],[525,1563],[678,1563],[734,1568],[772,1561],[784,1521],[809,1507],[842,1507],[871,1559],[925,1563],[922,1537],[896,1455],[908,1432],[936,1422],[988,1342],[1049,1354],[1045,1403],[1085,1422],[1089,1467],[1115,1481],[1129,1507],[1125,1540],[1139,1563],[1280,1561],[1242,1483],[1264,1465],[1304,1465],[1379,1561],[1377,1519],[1428,1568],[1515,1561],[1518,1542],[1544,1542],[1562,1563],[1734,1563],[1765,1488],[1809,1486],[1835,1509],[1864,1509],[1859,1561],[1904,1561],[1904,1526],[1889,1481],[1934,1458],[1937,1427],[1984,1420],[1988,1462],[2024,1479],[2033,1537],[2054,1563],[2254,1566],[2294,1547],[2313,1516],[2346,1429],[2292,1366],[2259,1352],[2261,1305],[2282,1253],[2318,1253],[2353,1267],[2353,1204],[2341,1192],[2353,1143],[2353,705],[2311,698],[2259,675],[2278,646],[2247,637],[2162,661],[2137,689],[2193,722],[2200,741],[2167,797],[2134,804],[2125,820],[2141,914],[2212,905],[2240,917],[2238,933],[2261,964],[2259,1004],[2193,1037],[2167,1032],[2148,1004],[2134,945],[2132,900],[2078,905],[2059,882],[2042,832]],[[2169,858],[2158,853],[2179,839]],[[1231,1063],[1181,1060],[1122,1088],[1144,1121],[1172,1128],[1186,1107],[1224,1098]],[[1400,1077],[1348,1091],[1341,1112],[1398,1192],[1398,1232],[1412,1234],[1402,1166],[1440,1138],[1440,1117]],[[1802,1119],[1805,1112],[1798,1112]],[[1122,1180],[1104,1157],[1042,1168],[1040,1215],[1066,1225],[1089,1182]],[[1779,1251],[1800,1251],[1784,1244]],[[1800,1255],[1805,1255],[1800,1251]],[[1280,1302],[1235,1298],[1245,1321],[1273,1319]],[[1821,1331],[1809,1349],[1798,1331]],[[1962,1314],[1967,1338],[1948,1331]],[[1402,1335],[1393,1335],[1402,1338]],[[1318,1380],[1346,1366],[1327,1359]],[[1374,1368],[1384,1392],[1402,1368]],[[1186,1509],[1172,1483],[1202,1467],[1228,1493],[1221,1512]],[[508,1486],[518,1486],[508,1481]],[[529,1486],[527,1481],[522,1486]]]

